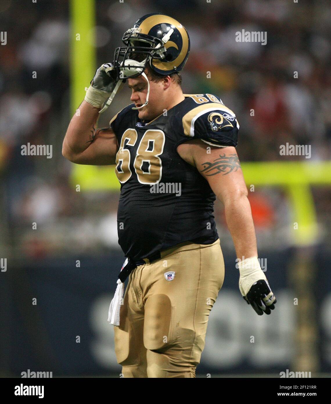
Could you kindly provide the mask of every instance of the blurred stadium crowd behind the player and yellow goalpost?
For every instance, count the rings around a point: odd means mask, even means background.
[[[311,145],[310,160],[330,160],[330,2],[96,0],[96,68],[111,62],[126,29],[152,12],[171,15],[186,27],[191,53],[182,72],[183,92],[216,94],[236,113],[242,162],[305,160],[281,156],[280,146],[286,143]],[[118,191],[76,192],[70,183],[72,164],[61,154],[71,118],[69,2],[2,0],[0,23],[7,32],[7,43],[0,46],[5,229],[0,243],[31,257],[119,248]],[[236,42],[236,32],[242,29],[266,32],[266,45]],[[129,103],[126,88],[100,118],[99,127],[108,126]],[[27,142],[51,144],[52,158],[22,156],[21,145]],[[318,220],[330,227],[330,189],[314,189],[314,198]],[[280,229],[288,224],[289,208],[283,191],[259,188],[250,199],[258,238],[277,229],[279,244],[284,242]],[[215,214],[221,233],[225,222],[219,202]],[[32,222],[40,226],[35,234]]]

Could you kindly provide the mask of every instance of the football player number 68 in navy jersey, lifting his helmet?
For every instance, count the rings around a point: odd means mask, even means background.
[[[115,164],[121,183],[118,238],[127,259],[117,283],[129,278],[112,324],[124,377],[195,377],[224,280],[216,197],[240,259],[241,294],[258,315],[276,303],[258,261],[235,149],[239,123],[217,95],[182,93],[190,40],[178,21],[145,15],[122,40],[113,63],[96,71],[80,116],[71,119],[63,156]],[[101,108],[124,82],[130,105],[108,128],[96,129]]]

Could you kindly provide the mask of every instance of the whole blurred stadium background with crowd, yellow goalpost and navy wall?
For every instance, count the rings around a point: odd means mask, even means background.
[[[216,202],[226,277],[197,374],[279,377],[289,369],[326,375],[331,4],[304,0],[2,0],[0,375],[20,377],[30,369],[53,377],[119,376],[107,323],[124,261],[117,244],[118,182],[113,168],[75,166],[61,147],[96,68],[112,61],[124,31],[152,12],[171,15],[189,32],[183,92],[219,95],[237,114],[237,152],[259,257],[278,300],[272,315],[261,317],[243,302],[233,243]],[[235,42],[242,29],[266,31],[267,44]],[[129,103],[125,88],[98,127]],[[28,142],[52,145],[52,158],[22,156]],[[286,143],[311,145],[311,158],[281,156]]]

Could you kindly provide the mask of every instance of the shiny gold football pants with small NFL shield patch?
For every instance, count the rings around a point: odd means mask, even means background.
[[[165,276],[172,271],[174,277]],[[123,377],[195,377],[208,316],[223,280],[219,239],[207,245],[178,244],[160,259],[136,267],[119,327],[114,327]]]

